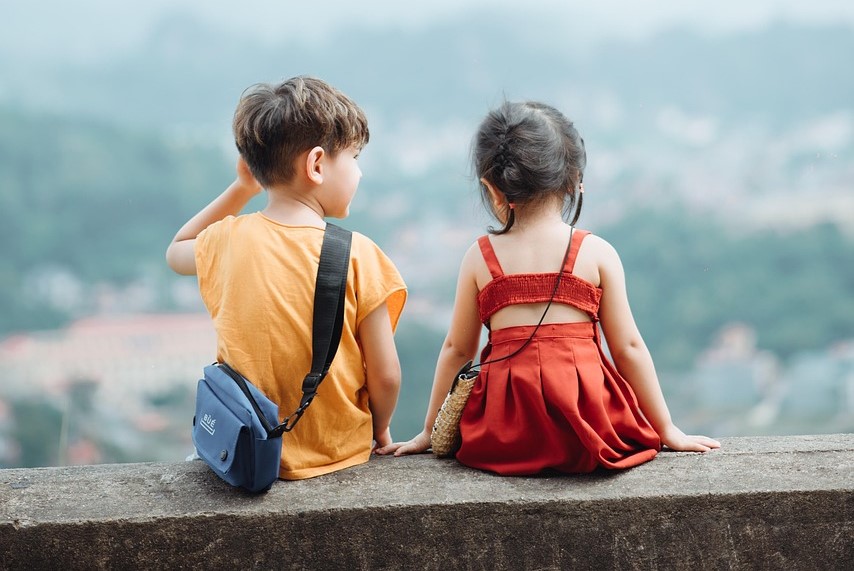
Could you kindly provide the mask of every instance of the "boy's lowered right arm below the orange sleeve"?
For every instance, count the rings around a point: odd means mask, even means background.
[[[358,335],[365,358],[368,404],[376,443],[374,446],[388,446],[392,443],[389,428],[391,415],[400,393],[400,361],[385,303],[362,319]]]

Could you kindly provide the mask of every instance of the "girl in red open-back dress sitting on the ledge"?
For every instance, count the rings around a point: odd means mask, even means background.
[[[573,227],[586,152],[572,122],[542,103],[505,103],[481,123],[473,159],[503,227],[490,228],[463,258],[424,430],[377,452],[430,447],[436,414],[454,373],[477,352],[481,324],[489,342],[460,421],[461,463],[507,475],[590,472],[636,466],[662,444],[718,448],[673,424],[617,252]]]

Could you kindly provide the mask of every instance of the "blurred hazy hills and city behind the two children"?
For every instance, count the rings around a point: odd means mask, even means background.
[[[233,178],[241,92],[298,74],[370,121],[343,225],[410,287],[395,438],[489,224],[468,153],[505,98],[584,136],[579,225],[621,253],[681,428],[854,431],[854,4],[588,4],[4,3],[0,467],[191,451],[214,335],[164,251]]]

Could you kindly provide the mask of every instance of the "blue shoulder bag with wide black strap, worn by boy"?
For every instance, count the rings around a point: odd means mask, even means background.
[[[351,240],[348,230],[326,225],[314,291],[311,371],[303,379],[302,398],[293,414],[279,423],[279,407],[226,363],[204,369],[196,391],[193,444],[214,473],[232,486],[265,492],[279,477],[282,434],[302,418],[338,351]]]

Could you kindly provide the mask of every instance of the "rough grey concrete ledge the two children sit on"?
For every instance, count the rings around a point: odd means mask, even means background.
[[[854,435],[723,446],[535,478],[377,457],[261,496],[201,462],[0,470],[0,568],[854,569]]]

